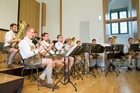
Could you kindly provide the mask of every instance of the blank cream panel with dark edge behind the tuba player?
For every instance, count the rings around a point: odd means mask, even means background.
[[[10,29],[11,23],[17,23],[18,0],[0,0],[0,28]]]

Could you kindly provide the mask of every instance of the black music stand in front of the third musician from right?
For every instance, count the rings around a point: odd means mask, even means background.
[[[101,46],[100,44],[95,44],[95,45],[92,45],[92,50],[91,50],[91,53],[94,53],[96,55],[96,64],[92,67],[92,69],[100,69],[101,72],[102,72],[102,69],[101,67],[97,64],[97,60],[98,60],[98,55],[97,53],[103,53],[105,50],[105,47]]]

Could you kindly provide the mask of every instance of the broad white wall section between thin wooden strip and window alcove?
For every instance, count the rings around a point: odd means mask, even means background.
[[[103,20],[98,20],[99,14],[103,14],[102,0],[63,0],[63,36],[78,40],[79,23],[89,21],[89,42],[96,38],[98,43],[103,43]]]

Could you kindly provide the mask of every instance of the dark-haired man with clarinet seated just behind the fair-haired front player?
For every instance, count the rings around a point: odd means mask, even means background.
[[[62,61],[57,58],[57,56],[53,56],[55,54],[55,50],[54,50],[54,43],[50,43],[50,40],[49,40],[49,34],[48,33],[43,33],[41,35],[42,37],[42,41],[41,43],[44,45],[44,47],[46,47],[46,49],[52,54],[52,55],[49,55],[49,53],[47,53],[46,50],[42,50],[40,51],[41,55],[46,57],[46,58],[51,58],[52,60],[54,60],[55,62],[55,69],[56,69],[56,72],[58,72],[62,67],[63,67],[63,64],[62,64]],[[56,78],[58,78],[58,76],[56,75]]]

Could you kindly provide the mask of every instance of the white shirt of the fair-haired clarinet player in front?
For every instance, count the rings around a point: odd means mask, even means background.
[[[32,40],[27,37],[24,37],[24,39],[19,42],[18,46],[23,59],[27,59],[38,54],[38,49],[35,48]]]

